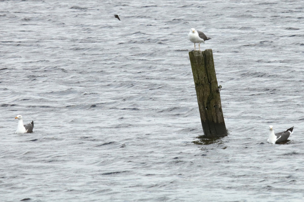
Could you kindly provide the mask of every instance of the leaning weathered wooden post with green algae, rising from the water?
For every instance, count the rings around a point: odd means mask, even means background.
[[[189,52],[199,113],[206,137],[227,136],[212,49]]]

